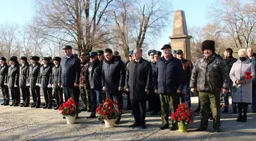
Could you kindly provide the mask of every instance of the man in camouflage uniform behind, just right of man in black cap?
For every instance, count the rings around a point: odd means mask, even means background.
[[[85,71],[87,69],[88,66],[88,59],[87,56],[85,55],[85,53],[83,52],[80,55],[80,59],[81,59],[81,73],[80,73],[80,97],[83,101],[83,109],[82,111],[88,111],[91,112],[91,97],[90,97],[90,92],[89,90],[86,89],[86,85],[85,85]]]

